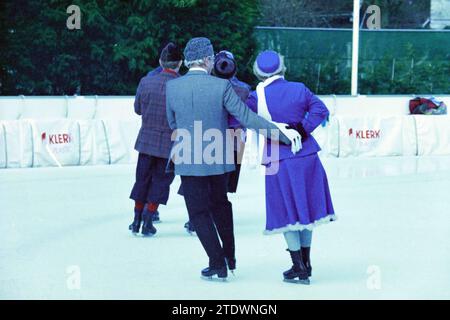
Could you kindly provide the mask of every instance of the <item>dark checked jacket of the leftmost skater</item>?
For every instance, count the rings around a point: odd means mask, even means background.
[[[142,116],[142,126],[135,149],[160,158],[169,158],[172,147],[170,129],[166,116],[166,83],[178,75],[162,71],[142,78],[139,83],[134,110]]]

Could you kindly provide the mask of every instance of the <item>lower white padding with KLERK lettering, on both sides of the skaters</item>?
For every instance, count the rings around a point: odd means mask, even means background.
[[[2,121],[0,168],[135,163],[140,125],[139,118]],[[335,116],[313,136],[322,157],[450,155],[449,116]]]

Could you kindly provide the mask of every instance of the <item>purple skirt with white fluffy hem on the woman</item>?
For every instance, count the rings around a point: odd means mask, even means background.
[[[264,233],[312,230],[336,220],[327,175],[317,153],[284,159],[278,165],[277,174],[266,175]]]

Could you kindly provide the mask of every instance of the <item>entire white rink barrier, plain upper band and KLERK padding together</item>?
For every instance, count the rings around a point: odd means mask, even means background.
[[[450,116],[409,115],[413,96],[320,98],[330,110],[313,132],[320,156],[450,155]],[[450,107],[450,96],[436,98]],[[132,96],[1,97],[0,168],[135,163],[133,103]]]

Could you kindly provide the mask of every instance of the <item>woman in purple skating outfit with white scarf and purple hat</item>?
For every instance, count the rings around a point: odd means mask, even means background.
[[[329,111],[303,83],[284,79],[286,68],[277,52],[260,53],[253,71],[262,82],[250,94],[247,105],[268,120],[288,123],[302,135],[302,149],[295,154],[289,146],[266,141],[265,233],[284,234],[293,262],[283,273],[284,280],[309,284],[312,230],[336,218],[327,176],[317,155],[320,147],[311,135]],[[278,148],[278,155],[274,148]]]

